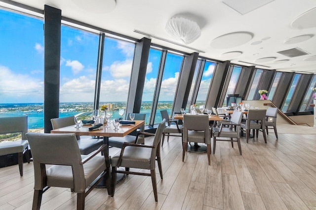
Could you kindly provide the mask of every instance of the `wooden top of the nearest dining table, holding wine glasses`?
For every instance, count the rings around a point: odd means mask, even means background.
[[[139,126],[145,124],[144,120],[134,120],[135,124],[132,125],[119,125],[118,130],[114,130],[114,126],[111,123],[111,127],[106,128],[106,124],[101,126],[99,130],[89,131],[89,127],[92,125],[81,125],[78,129],[75,127],[76,125],[70,125],[67,127],[62,127],[58,129],[51,130],[50,133],[75,133],[79,136],[105,136],[105,137],[124,137],[133,130],[136,130]]]

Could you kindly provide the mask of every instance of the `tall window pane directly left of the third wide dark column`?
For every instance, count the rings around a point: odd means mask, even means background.
[[[183,56],[167,53],[158,98],[155,123],[159,123],[161,121],[160,110],[166,109],[168,114],[171,115],[182,61]]]

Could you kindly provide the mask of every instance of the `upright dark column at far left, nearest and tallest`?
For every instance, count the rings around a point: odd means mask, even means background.
[[[61,10],[44,6],[44,132],[59,117]]]

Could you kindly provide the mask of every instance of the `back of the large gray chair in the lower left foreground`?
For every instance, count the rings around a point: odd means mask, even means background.
[[[42,189],[45,177],[41,177],[43,164],[71,166],[74,176],[75,192],[84,191],[85,179],[83,166],[80,164],[81,155],[76,135],[50,134],[50,133],[27,133],[26,137],[32,148],[34,165],[34,189]]]

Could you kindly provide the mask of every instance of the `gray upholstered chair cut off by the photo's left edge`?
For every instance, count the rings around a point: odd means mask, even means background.
[[[20,176],[23,176],[23,154],[26,155],[26,160],[30,163],[28,141],[25,134],[28,132],[28,117],[7,117],[0,118],[0,134],[21,133],[22,140],[0,143],[0,155],[18,153],[18,163]]]

